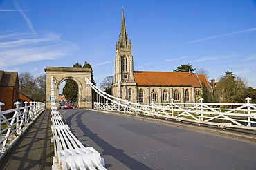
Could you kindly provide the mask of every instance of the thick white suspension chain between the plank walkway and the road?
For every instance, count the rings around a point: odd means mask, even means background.
[[[57,111],[51,77],[51,114],[54,153],[52,169],[105,169],[104,158],[93,147],[84,147]]]

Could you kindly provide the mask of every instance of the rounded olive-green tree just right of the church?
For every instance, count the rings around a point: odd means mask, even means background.
[[[245,81],[232,72],[225,72],[217,85],[217,96],[221,103],[244,103],[246,98]]]

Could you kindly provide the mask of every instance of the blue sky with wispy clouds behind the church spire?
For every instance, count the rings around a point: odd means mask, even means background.
[[[0,70],[93,66],[99,85],[114,71],[122,6],[134,70],[190,63],[217,81],[225,71],[256,88],[256,1],[0,0]]]

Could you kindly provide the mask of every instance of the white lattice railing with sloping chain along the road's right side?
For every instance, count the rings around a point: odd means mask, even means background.
[[[256,104],[250,103],[250,98],[246,103],[203,103],[203,98],[200,103],[174,103],[173,99],[171,103],[131,103],[102,92],[88,78],[85,80],[106,101],[94,102],[93,109],[256,131]]]

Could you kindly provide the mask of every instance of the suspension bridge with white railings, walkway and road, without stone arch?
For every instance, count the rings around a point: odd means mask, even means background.
[[[256,104],[250,98],[245,103],[131,103],[85,78],[92,89],[91,109],[64,111],[57,109],[51,81],[51,110],[37,102],[0,110],[1,169],[256,167]]]

